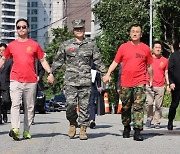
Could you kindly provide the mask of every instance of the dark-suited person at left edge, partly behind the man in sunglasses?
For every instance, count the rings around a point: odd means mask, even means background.
[[[7,45],[5,43],[0,43],[0,57],[3,56],[6,47]],[[8,59],[0,69],[0,124],[2,124],[2,120],[4,123],[8,122],[7,110],[11,106],[9,86],[12,63],[12,59]]]

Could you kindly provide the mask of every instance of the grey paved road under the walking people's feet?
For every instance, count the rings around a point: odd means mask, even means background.
[[[9,115],[8,115],[9,116]],[[23,114],[21,114],[21,121]],[[173,131],[166,129],[167,120],[162,120],[160,129],[144,127],[145,140],[133,140],[133,131],[129,139],[122,138],[123,126],[119,114],[107,114],[97,117],[96,129],[88,129],[89,139],[81,141],[67,136],[68,122],[65,112],[37,114],[36,124],[31,127],[32,139],[14,141],[8,136],[10,123],[0,125],[1,154],[179,154],[180,122],[175,122]],[[23,123],[21,123],[22,137]]]

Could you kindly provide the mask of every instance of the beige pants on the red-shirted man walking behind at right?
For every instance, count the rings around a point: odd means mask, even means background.
[[[152,121],[154,125],[160,124],[162,117],[162,103],[164,97],[164,86],[163,87],[153,87],[153,89],[146,86],[146,110],[147,110],[147,120]],[[154,104],[155,103],[155,104]],[[155,105],[155,110],[153,111],[153,105]]]

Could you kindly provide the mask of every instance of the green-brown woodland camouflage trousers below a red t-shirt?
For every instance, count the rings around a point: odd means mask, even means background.
[[[122,123],[127,126],[133,121],[133,127],[143,129],[145,85],[136,87],[122,87],[120,99],[122,101]],[[131,114],[132,113],[132,114]]]

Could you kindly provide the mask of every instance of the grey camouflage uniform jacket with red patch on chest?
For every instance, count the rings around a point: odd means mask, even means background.
[[[91,58],[97,71],[105,74],[106,69],[95,42],[85,38],[81,43],[78,43],[76,38],[73,38],[63,42],[60,46],[52,64],[52,71],[54,72],[65,63],[65,85],[90,86]]]

